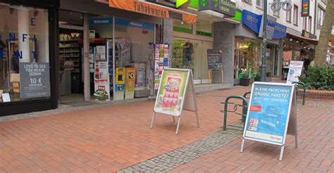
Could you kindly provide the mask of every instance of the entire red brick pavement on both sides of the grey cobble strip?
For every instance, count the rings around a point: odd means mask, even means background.
[[[185,113],[178,136],[176,124],[165,115],[157,115],[154,129],[149,129],[152,101],[0,122],[0,172],[111,172],[161,158],[219,132],[219,102],[248,90],[197,95],[201,127],[193,113]],[[277,147],[263,143],[247,141],[239,153],[239,138],[207,154],[204,147],[204,155],[180,160],[187,163],[172,172],[333,171],[333,112],[333,102],[308,101],[299,109],[299,148],[287,137],[283,162],[278,162]],[[238,119],[228,118],[230,124]]]

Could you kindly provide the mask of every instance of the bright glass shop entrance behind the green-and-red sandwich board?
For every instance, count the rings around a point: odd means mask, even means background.
[[[172,68],[192,69],[194,84],[209,83],[207,50],[213,43],[174,37],[172,44]]]

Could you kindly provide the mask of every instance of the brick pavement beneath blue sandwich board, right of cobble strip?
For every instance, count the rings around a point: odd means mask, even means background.
[[[298,110],[299,143],[287,136],[283,162],[280,148],[241,137],[172,172],[334,172],[334,102],[307,101]]]

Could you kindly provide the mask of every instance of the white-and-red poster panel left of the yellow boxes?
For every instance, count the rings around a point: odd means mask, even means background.
[[[110,100],[108,63],[106,61],[95,61],[94,88],[94,96],[97,100]]]

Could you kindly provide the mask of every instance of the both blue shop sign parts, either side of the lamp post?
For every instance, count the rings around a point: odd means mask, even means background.
[[[257,15],[256,13],[252,13],[246,10],[242,11],[242,25],[248,27],[249,30],[252,30],[256,34],[260,33],[261,21],[262,15]],[[276,23],[273,20],[267,20],[267,25],[267,27],[275,28],[272,39],[282,39],[286,37],[287,27],[285,25]]]

